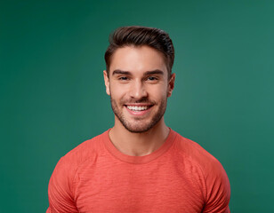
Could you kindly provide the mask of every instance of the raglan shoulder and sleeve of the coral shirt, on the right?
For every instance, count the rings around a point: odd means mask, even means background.
[[[196,142],[177,133],[174,147],[190,170],[198,170],[205,199],[205,212],[227,212],[230,201],[230,181],[219,162]]]

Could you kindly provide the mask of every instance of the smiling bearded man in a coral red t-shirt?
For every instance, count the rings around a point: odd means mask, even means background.
[[[174,50],[157,28],[118,28],[103,72],[114,127],[60,159],[50,212],[230,212],[220,162],[165,125]]]

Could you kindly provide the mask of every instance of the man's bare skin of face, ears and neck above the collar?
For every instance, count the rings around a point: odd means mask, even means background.
[[[118,149],[125,154],[148,154],[165,141],[169,129],[163,115],[174,78],[174,74],[168,78],[162,53],[149,46],[125,46],[114,52],[109,76],[104,71],[104,81],[115,114],[109,138]],[[126,106],[143,106],[146,110]],[[123,143],[125,138],[132,143]]]

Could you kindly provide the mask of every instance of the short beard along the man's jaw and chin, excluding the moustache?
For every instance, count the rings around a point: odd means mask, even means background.
[[[141,102],[146,102],[146,101],[142,100]],[[133,133],[142,133],[154,127],[157,124],[157,122],[159,122],[161,118],[164,116],[166,105],[167,105],[167,97],[161,101],[157,114],[153,115],[152,120],[148,123],[148,125],[145,125],[143,127],[141,126],[133,127],[133,125],[130,122],[126,121],[124,114],[122,114],[122,110],[121,112],[119,112],[118,110],[117,102],[111,98],[111,94],[110,94],[110,103],[111,103],[111,108],[113,110],[113,113],[117,116],[117,118],[123,124],[126,130]],[[123,107],[124,106],[122,105],[122,109]],[[139,119],[137,118],[136,121],[138,120]]]

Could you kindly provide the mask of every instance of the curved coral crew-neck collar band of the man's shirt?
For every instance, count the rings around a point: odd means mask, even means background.
[[[111,128],[109,130],[111,130]],[[165,154],[165,152],[167,152],[170,146],[173,145],[173,141],[176,137],[176,132],[169,128],[170,131],[167,138],[165,139],[165,143],[159,148],[157,148],[156,151],[154,151],[151,154],[147,154],[143,156],[132,156],[132,155],[121,153],[117,149],[117,147],[113,145],[113,143],[110,141],[110,138],[109,138],[109,130],[105,131],[104,134],[102,135],[103,143],[105,144],[109,153],[115,156],[118,160],[122,162],[129,162],[134,164],[152,162],[157,157],[161,156],[162,154]]]

